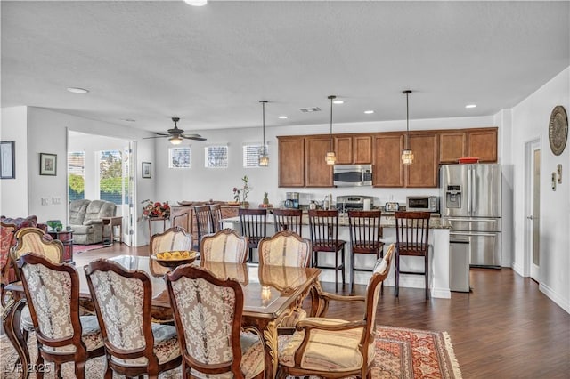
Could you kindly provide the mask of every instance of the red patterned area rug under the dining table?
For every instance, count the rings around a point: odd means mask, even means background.
[[[452,342],[446,332],[405,329],[400,327],[378,327],[376,336],[376,359],[372,367],[372,378],[449,378],[460,379],[460,367],[453,353]],[[36,339],[30,338],[29,348],[32,362],[36,359]],[[16,352],[5,335],[0,336],[0,356],[2,357],[2,374],[4,379],[20,378],[14,370]],[[87,379],[103,377],[105,361],[103,357],[87,361],[85,376]],[[53,366],[48,367],[46,379],[53,378]],[[62,377],[75,377],[73,366],[63,365]],[[35,378],[36,375],[30,375]],[[114,378],[121,376],[114,375]],[[161,379],[181,378],[180,368],[171,370]]]

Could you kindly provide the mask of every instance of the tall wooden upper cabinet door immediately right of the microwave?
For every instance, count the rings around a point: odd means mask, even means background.
[[[374,137],[374,187],[403,187],[403,134],[379,133]]]

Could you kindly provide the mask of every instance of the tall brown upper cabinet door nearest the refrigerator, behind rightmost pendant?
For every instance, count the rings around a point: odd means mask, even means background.
[[[405,187],[438,187],[439,138],[436,133],[410,134],[413,163],[404,165]]]

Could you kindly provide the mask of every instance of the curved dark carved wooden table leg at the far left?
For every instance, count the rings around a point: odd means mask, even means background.
[[[22,378],[28,378],[28,367],[29,367],[29,351],[28,342],[21,331],[20,319],[21,310],[26,306],[26,299],[20,299],[19,301],[12,300],[8,303],[4,313],[2,314],[2,322],[4,324],[4,332],[8,336],[8,339],[12,343],[16,353],[18,353],[18,358],[20,359],[20,366],[22,370]]]

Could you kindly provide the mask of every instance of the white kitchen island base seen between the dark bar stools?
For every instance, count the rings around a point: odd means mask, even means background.
[[[240,218],[230,217],[223,221],[224,228],[232,228],[240,231]],[[303,238],[310,238],[311,232],[309,230],[308,215],[303,214]],[[395,218],[392,215],[382,216],[381,226],[383,230],[383,238],[385,249],[391,243],[395,243]],[[350,230],[348,228],[348,217],[338,217],[338,238],[346,241],[345,250],[345,267],[346,267],[346,283],[350,278]],[[432,297],[449,299],[451,298],[450,292],[450,264],[449,264],[449,232],[451,227],[447,222],[444,222],[440,217],[433,217],[429,221],[429,283],[430,293]],[[274,233],[274,220],[273,214],[267,214],[267,236],[272,236]],[[330,258],[326,259],[326,258]],[[354,264],[356,267],[373,267],[374,256],[366,254],[356,254]],[[325,254],[319,255],[319,263],[330,265],[334,260],[334,255],[326,256]],[[423,258],[421,257],[404,257],[401,261],[402,270],[423,270]],[[355,284],[368,284],[371,278],[371,273],[356,271],[354,273]],[[322,270],[321,280],[324,282],[334,282],[334,270]],[[390,270],[390,274],[386,279],[387,286],[394,286],[394,269]],[[419,275],[404,275],[400,276],[400,286],[412,288],[424,288],[424,278]]]

